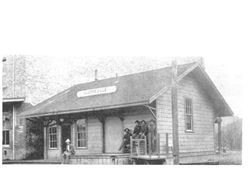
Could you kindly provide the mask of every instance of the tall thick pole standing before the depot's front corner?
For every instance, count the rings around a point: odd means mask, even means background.
[[[172,62],[172,129],[173,129],[173,157],[174,164],[179,164],[179,135],[178,135],[178,95],[177,95],[177,64]]]

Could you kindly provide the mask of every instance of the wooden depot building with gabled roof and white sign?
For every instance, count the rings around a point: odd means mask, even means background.
[[[133,130],[136,120],[154,120],[157,151],[167,152],[166,160],[178,156],[178,163],[202,157],[211,161],[218,120],[233,112],[202,65],[176,68],[176,98],[170,66],[75,85],[23,116],[41,123],[45,160],[61,160],[65,140],[70,139],[76,151],[72,163],[129,163],[130,155],[118,151],[124,128]]]

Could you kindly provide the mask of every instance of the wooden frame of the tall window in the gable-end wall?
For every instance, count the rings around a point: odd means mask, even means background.
[[[190,106],[187,106],[189,101]],[[189,108],[189,109],[188,109]],[[184,117],[185,117],[185,132],[186,133],[194,133],[194,112],[193,112],[193,99],[190,97],[185,97],[184,99]],[[187,113],[189,111],[190,113]],[[190,119],[191,121],[191,129],[187,129],[187,121]]]

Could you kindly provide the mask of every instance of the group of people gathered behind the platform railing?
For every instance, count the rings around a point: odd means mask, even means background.
[[[151,142],[151,152],[155,152],[156,149],[156,124],[154,120],[150,120],[146,122],[135,121],[134,130],[131,131],[128,128],[124,129],[123,141],[119,147],[119,151],[123,151],[123,153],[130,153],[130,138],[133,139],[146,139],[147,146],[149,141]]]

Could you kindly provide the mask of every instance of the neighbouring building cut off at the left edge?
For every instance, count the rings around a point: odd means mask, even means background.
[[[19,115],[31,106],[25,101],[25,60],[22,57],[8,56],[2,62],[2,158],[24,159],[26,127],[25,119]]]

